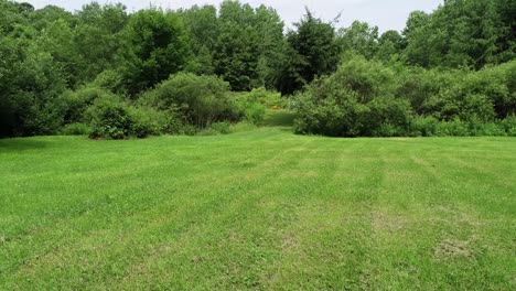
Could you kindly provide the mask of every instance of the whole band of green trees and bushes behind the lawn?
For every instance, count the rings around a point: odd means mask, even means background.
[[[0,0],[0,137],[123,139],[259,123],[335,137],[516,136],[516,1],[445,0],[405,30],[287,30],[239,1],[74,13]]]

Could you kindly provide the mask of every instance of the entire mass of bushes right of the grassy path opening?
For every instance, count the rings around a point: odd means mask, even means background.
[[[356,136],[506,136],[514,62],[479,72],[389,67],[345,60],[297,98],[295,131]]]

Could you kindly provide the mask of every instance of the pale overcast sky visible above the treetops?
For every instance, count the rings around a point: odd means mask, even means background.
[[[47,4],[58,6],[69,11],[80,9],[89,0],[25,0],[36,9]],[[22,2],[22,0],[19,0]],[[163,9],[189,8],[194,4],[215,4],[222,0],[98,0],[100,3],[122,2],[132,12],[148,8],[151,3]],[[354,20],[366,21],[378,25],[380,31],[402,30],[409,13],[413,10],[433,11],[443,0],[241,0],[258,7],[261,3],[275,8],[284,23],[290,26],[304,13],[304,7],[310,8],[316,17],[326,21],[333,20],[342,11],[338,26],[348,26]]]

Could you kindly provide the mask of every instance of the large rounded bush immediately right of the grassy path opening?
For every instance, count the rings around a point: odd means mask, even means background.
[[[333,137],[400,136],[411,118],[410,104],[395,98],[395,74],[362,57],[314,80],[295,99],[299,133]]]

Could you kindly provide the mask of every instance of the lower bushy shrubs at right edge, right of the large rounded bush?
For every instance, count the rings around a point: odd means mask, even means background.
[[[438,120],[493,122],[516,112],[516,61],[479,72],[398,68],[396,95]]]

